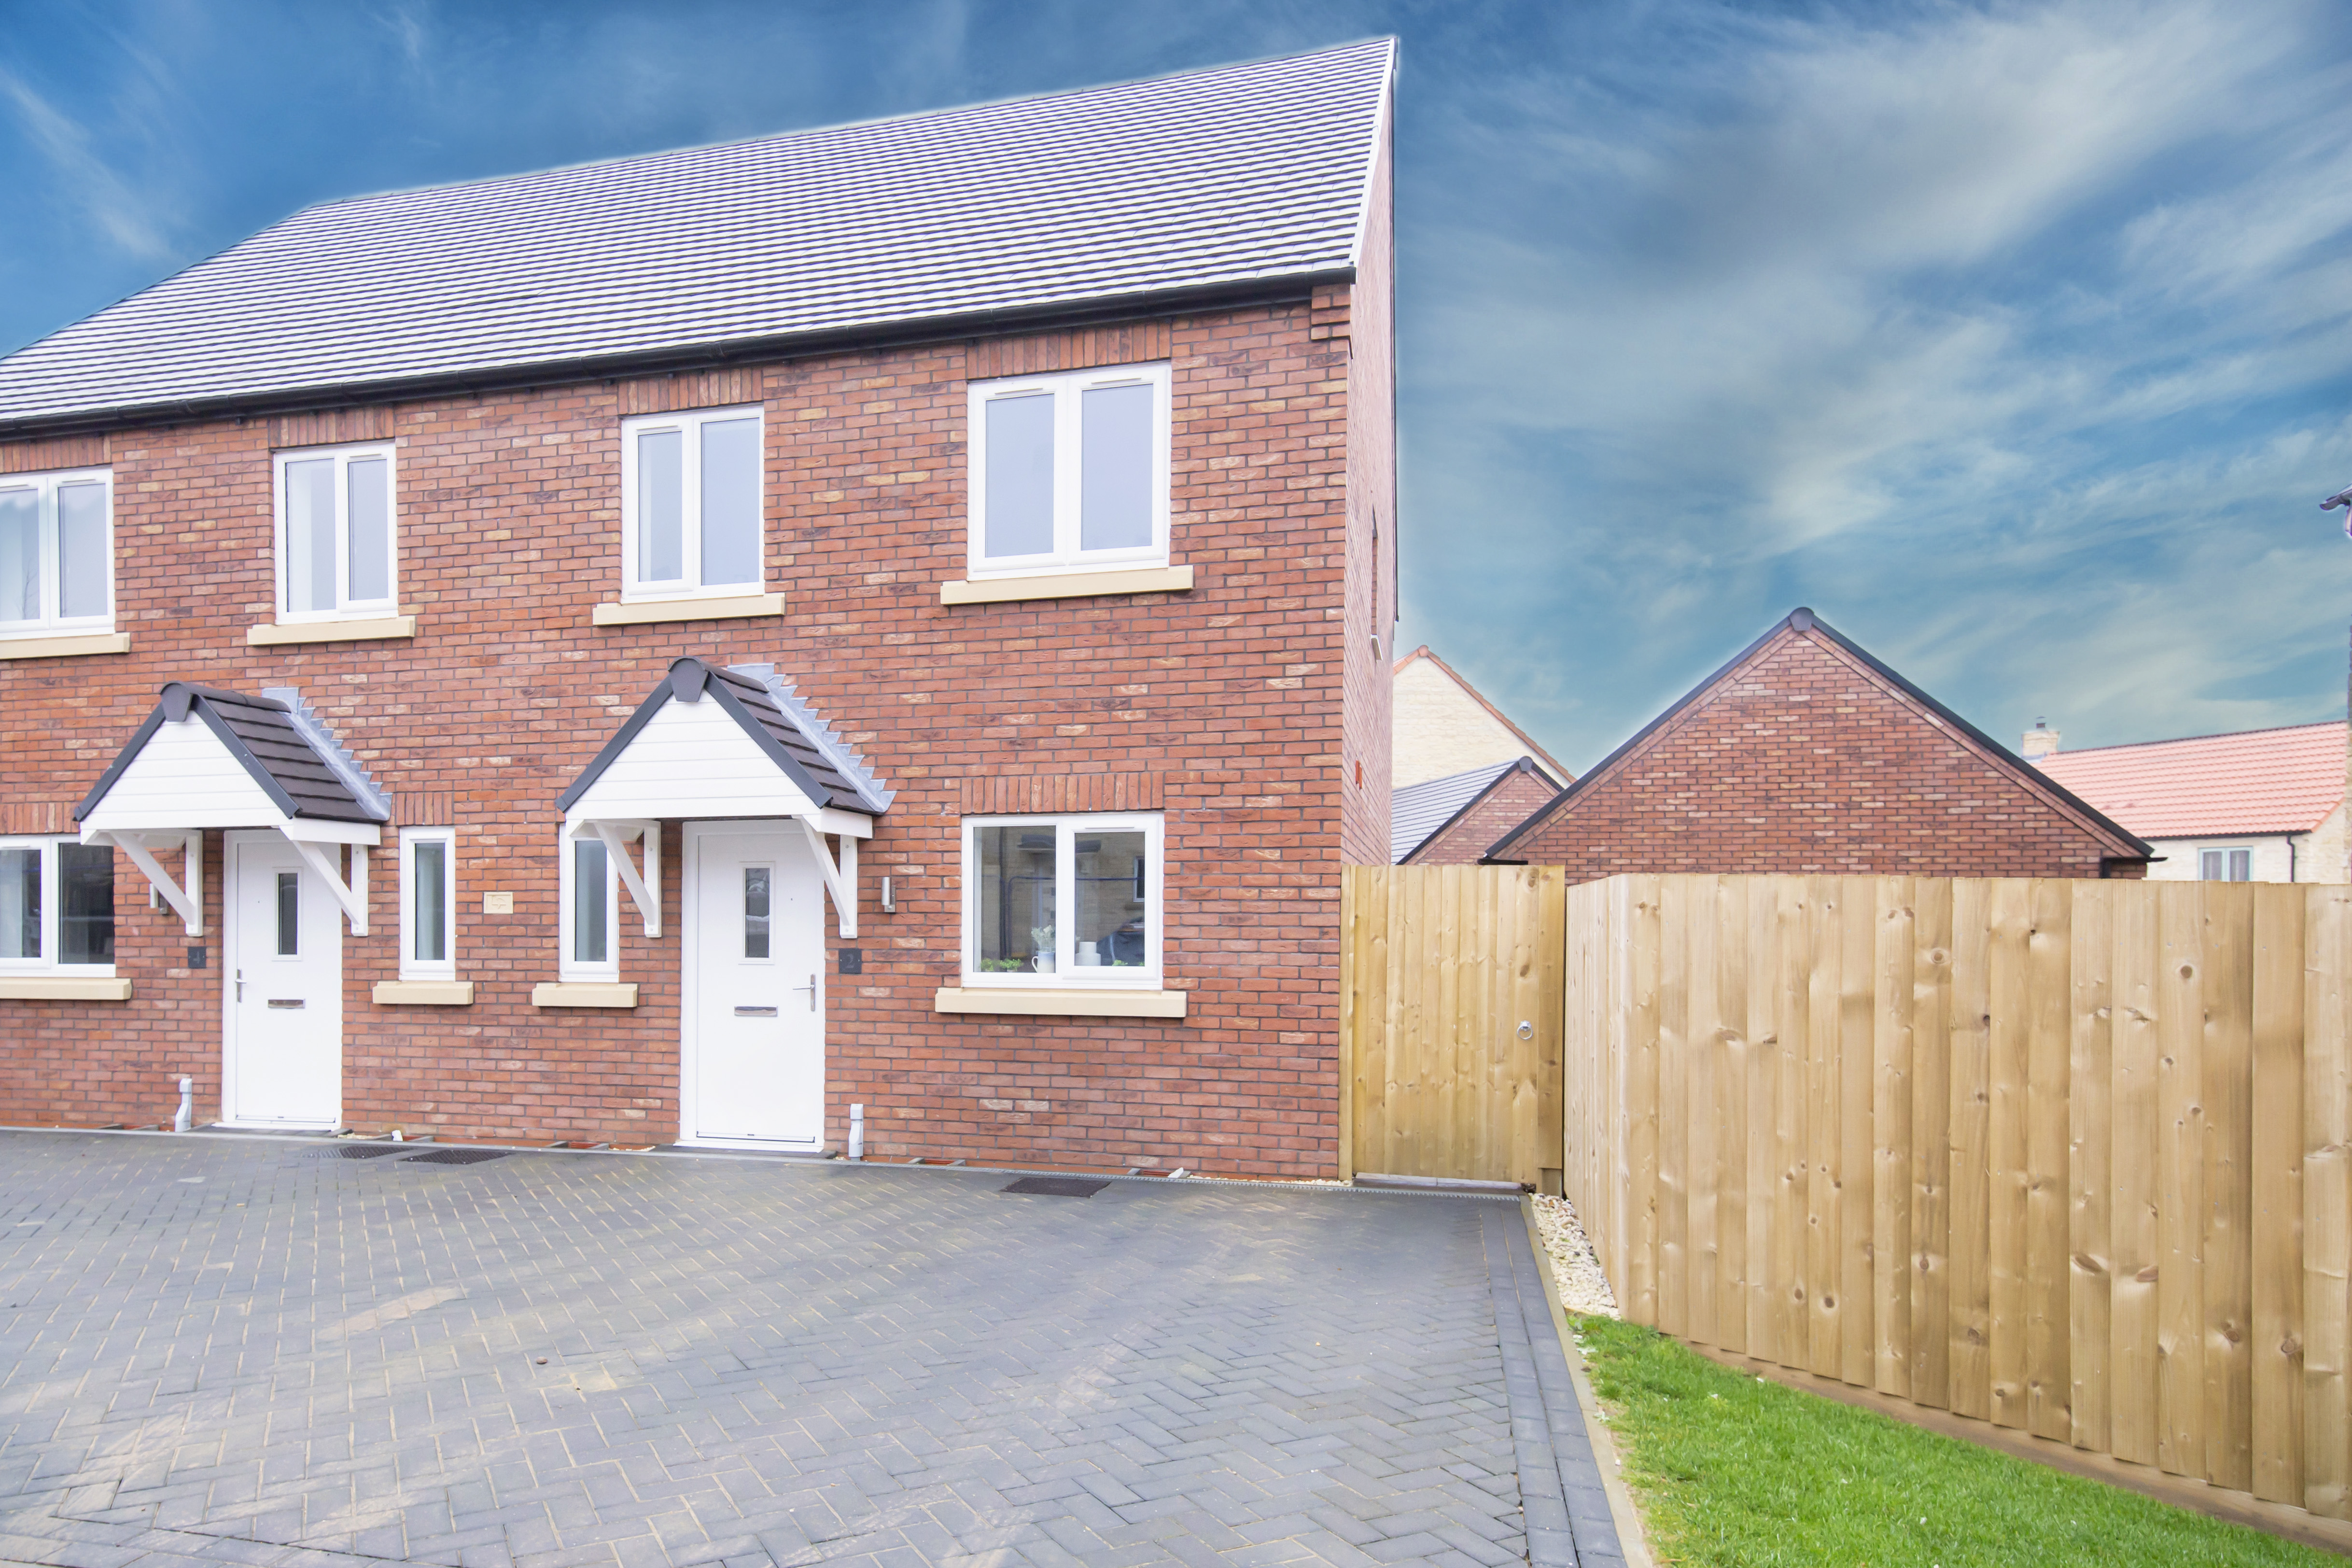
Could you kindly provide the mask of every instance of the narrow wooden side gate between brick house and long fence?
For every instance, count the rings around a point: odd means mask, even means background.
[[[1564,891],[1536,865],[1341,870],[1341,1175],[1557,1192]]]

